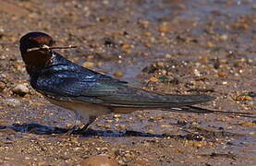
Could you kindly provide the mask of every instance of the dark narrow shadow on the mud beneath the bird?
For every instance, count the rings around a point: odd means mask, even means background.
[[[11,129],[19,133],[31,133],[35,135],[65,135],[67,134],[67,128],[60,128],[60,127],[53,127],[49,125],[40,125],[40,124],[13,124],[13,125],[0,125],[0,132],[4,129]],[[196,140],[201,141],[202,137],[200,135],[169,135],[169,134],[152,134],[152,133],[145,133],[145,132],[138,132],[132,130],[126,130],[124,132],[116,132],[112,130],[92,130],[88,129],[86,132],[74,132],[72,135],[78,136],[104,136],[104,137],[128,137],[128,136],[140,136],[140,137],[171,137],[177,139],[189,139],[189,140]]]

